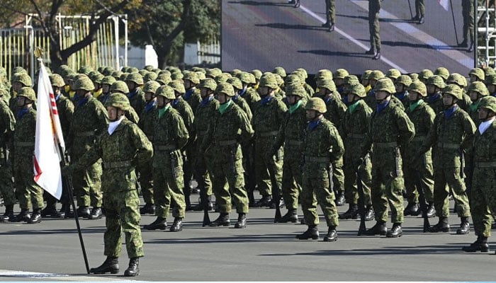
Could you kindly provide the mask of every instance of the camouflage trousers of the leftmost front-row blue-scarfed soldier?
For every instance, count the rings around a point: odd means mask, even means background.
[[[303,187],[301,190],[301,209],[307,225],[318,225],[317,203],[320,204],[327,226],[338,226],[337,207],[334,203],[334,192],[329,189],[327,170],[322,168],[319,178],[308,178],[303,173]],[[312,175],[316,175],[312,172]]]

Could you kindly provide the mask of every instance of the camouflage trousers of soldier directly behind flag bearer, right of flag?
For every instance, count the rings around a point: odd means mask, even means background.
[[[79,207],[101,207],[101,161],[97,161],[88,168],[75,171],[72,175],[74,192]]]

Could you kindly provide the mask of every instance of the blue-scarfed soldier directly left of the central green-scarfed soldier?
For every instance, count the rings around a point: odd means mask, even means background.
[[[275,98],[274,93],[278,88],[276,79],[271,74],[261,77],[258,92],[261,100],[257,103],[253,113],[252,125],[255,131],[255,175],[261,199],[255,204],[257,207],[272,207],[280,205],[281,200],[272,200],[272,188],[276,184],[270,184],[269,166],[274,167],[277,186],[281,187],[283,149],[280,149],[275,158],[269,158],[278,129],[284,119],[287,108],[281,100]],[[274,187],[274,190],[276,188]],[[281,195],[281,194],[279,194]],[[274,204],[274,205],[273,205]]]

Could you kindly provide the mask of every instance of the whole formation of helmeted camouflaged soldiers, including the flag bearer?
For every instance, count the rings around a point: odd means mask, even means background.
[[[332,242],[339,219],[359,216],[376,219],[362,231],[368,236],[400,237],[404,217],[420,214],[439,219],[427,231],[451,231],[451,195],[461,219],[456,233],[469,233],[471,214],[478,236],[463,250],[489,250],[496,213],[496,72],[475,68],[468,76],[469,82],[444,67],[418,74],[367,70],[360,78],[322,69],[314,89],[303,68],[287,74],[282,67],[265,73],[60,67],[50,79],[70,157],[63,173],[72,177],[77,215],[106,216],[107,259],[91,272],[118,272],[124,231],[125,275],[139,274],[141,229],[167,229],[171,210],[169,230],[179,232],[187,211],[214,207],[219,215],[209,226],[230,226],[235,207],[235,228],[242,229],[249,207],[286,206],[276,221],[306,224],[296,236],[303,240],[320,238],[319,204],[327,224],[323,239]],[[33,80],[20,67],[10,81],[0,69],[0,79],[1,221],[74,217],[67,196],[72,188],[64,186],[57,210],[49,195],[44,207],[43,190],[33,180]],[[197,205],[190,202],[193,179],[201,193]],[[338,214],[345,203],[349,208]],[[140,214],[157,219],[140,227]]]

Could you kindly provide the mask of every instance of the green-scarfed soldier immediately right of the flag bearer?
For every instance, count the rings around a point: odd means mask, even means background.
[[[157,207],[157,219],[144,228],[147,230],[167,228],[166,219],[172,199],[176,202],[176,206],[172,209],[174,224],[170,231],[179,232],[183,229],[186,213],[182,190],[184,173],[181,149],[188,142],[188,130],[179,112],[171,107],[172,101],[176,99],[174,90],[170,86],[160,86],[155,96],[157,96],[157,110],[153,134],[153,198]]]

